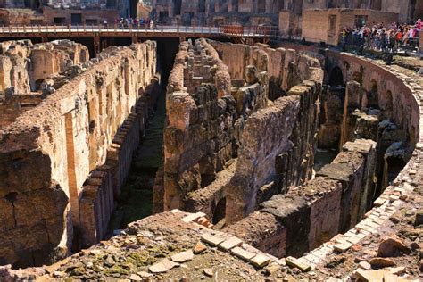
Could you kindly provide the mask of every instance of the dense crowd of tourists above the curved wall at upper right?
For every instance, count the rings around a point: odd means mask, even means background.
[[[344,28],[341,44],[343,47],[354,45],[368,50],[395,52],[404,47],[417,47],[420,30],[423,30],[423,21],[420,19],[413,25],[393,23],[388,27],[374,24],[371,27]]]

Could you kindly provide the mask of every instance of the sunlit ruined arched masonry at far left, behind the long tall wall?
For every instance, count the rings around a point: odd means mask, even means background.
[[[46,98],[47,78],[89,60],[87,47],[69,40],[6,41],[0,50],[0,129]]]

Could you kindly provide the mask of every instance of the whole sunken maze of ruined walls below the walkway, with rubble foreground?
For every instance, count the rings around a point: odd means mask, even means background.
[[[373,271],[419,256],[419,228],[384,235],[423,223],[418,79],[321,46],[153,39],[0,43],[0,278],[324,279],[363,241],[386,245]]]

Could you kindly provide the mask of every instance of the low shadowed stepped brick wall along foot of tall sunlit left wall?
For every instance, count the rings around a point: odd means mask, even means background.
[[[159,83],[159,78],[152,79],[149,87],[140,93],[142,96],[137,101],[135,112],[123,122],[107,150],[105,164],[91,172],[84,183],[79,206],[82,247],[95,245],[107,233],[114,203],[129,175],[132,157],[161,93]]]

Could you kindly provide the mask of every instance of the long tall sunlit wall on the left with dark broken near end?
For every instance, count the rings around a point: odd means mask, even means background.
[[[102,60],[0,132],[2,264],[42,264],[68,254],[73,228],[85,227],[81,219],[90,216],[79,212],[81,198],[102,199],[89,212],[97,214],[95,240],[104,234],[110,181],[118,195],[136,146],[130,138],[145,120],[141,109],[151,105],[137,101],[157,83],[155,54],[150,41],[104,51]]]

